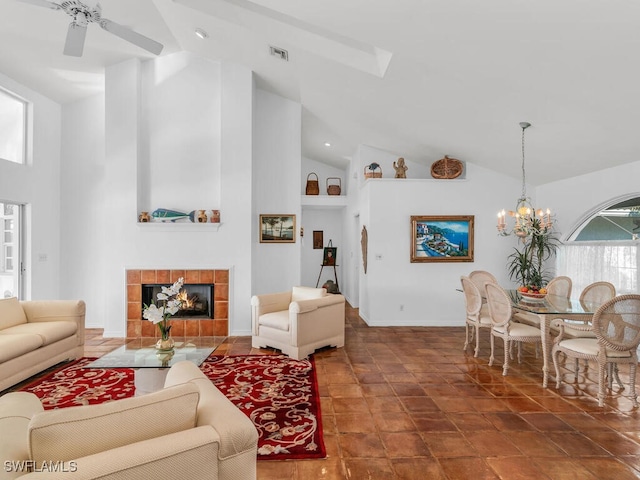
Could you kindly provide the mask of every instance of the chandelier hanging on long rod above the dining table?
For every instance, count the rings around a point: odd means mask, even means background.
[[[498,234],[502,236],[516,235],[522,239],[530,235],[544,235],[550,233],[553,226],[551,211],[547,208],[536,210],[527,197],[526,175],[524,169],[524,131],[531,126],[528,122],[520,122],[522,129],[522,194],[518,199],[515,210],[502,210],[498,213]],[[515,218],[513,230],[507,230],[506,216]]]

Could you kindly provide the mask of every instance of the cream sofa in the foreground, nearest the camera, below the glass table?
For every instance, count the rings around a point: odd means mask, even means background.
[[[253,422],[189,361],[164,386],[48,411],[30,393],[0,397],[0,479],[255,479]]]

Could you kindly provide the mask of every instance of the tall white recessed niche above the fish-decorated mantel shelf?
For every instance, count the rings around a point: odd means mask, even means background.
[[[142,67],[139,210],[219,209],[220,64],[177,53]]]

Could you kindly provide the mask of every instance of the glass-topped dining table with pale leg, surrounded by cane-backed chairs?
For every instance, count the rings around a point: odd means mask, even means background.
[[[505,290],[514,309],[534,313],[540,318],[542,337],[542,386],[547,387],[549,359],[551,357],[551,323],[562,318],[576,322],[590,322],[600,303],[580,302],[577,299],[546,295],[543,299],[530,299],[518,290]]]

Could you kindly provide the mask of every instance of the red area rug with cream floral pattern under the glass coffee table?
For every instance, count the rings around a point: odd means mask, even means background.
[[[92,405],[131,397],[133,370],[85,368],[81,358],[20,388],[45,409]],[[320,397],[313,357],[212,355],[200,367],[254,423],[258,460],[324,458]]]

